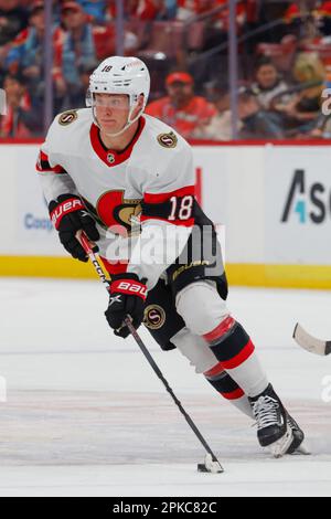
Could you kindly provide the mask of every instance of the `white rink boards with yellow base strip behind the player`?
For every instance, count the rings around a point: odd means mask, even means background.
[[[34,171],[39,144],[0,146],[0,275],[94,277],[65,256]],[[232,284],[331,288],[331,171],[325,142],[193,146],[196,192],[225,225]]]

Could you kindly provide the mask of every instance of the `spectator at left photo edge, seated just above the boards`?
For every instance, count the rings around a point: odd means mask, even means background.
[[[20,74],[8,74],[3,88],[7,95],[7,114],[0,118],[0,137],[28,138],[40,135],[41,106],[32,106],[32,100]]]

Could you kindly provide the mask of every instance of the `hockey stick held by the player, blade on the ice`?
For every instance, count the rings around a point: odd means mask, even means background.
[[[96,258],[96,255],[94,254],[94,252],[90,247],[90,244],[89,244],[87,237],[85,236],[84,233],[79,234],[77,237],[81,241],[86,254],[88,255],[88,257],[89,257],[97,275],[99,276],[103,284],[105,285],[107,294],[109,295],[109,292],[108,292],[109,284],[107,282],[107,278],[104,274],[104,271],[103,271],[98,260]],[[184,416],[185,421],[188,422],[189,426],[191,427],[191,430],[193,431],[193,433],[195,434],[197,439],[201,442],[201,444],[203,445],[203,447],[207,452],[207,454],[205,456],[204,464],[199,464],[197,465],[197,470],[199,472],[207,472],[207,473],[223,473],[224,469],[223,469],[221,463],[218,462],[215,454],[213,453],[213,451],[211,449],[211,447],[209,446],[209,444],[206,443],[206,441],[202,436],[201,432],[199,431],[199,428],[194,424],[191,416],[186,413],[186,411],[182,406],[181,402],[175,396],[175,394],[172,391],[172,389],[170,388],[168,381],[164,379],[160,368],[158,367],[154,359],[152,358],[152,356],[148,351],[147,347],[145,346],[143,341],[141,340],[141,338],[140,338],[139,333],[137,332],[136,328],[132,326],[132,322],[131,322],[131,319],[130,319],[129,316],[126,317],[125,325],[129,328],[131,336],[136,340],[137,345],[139,346],[140,350],[142,351],[143,356],[146,357],[147,361],[151,366],[152,370],[154,371],[157,377],[161,380],[161,382],[163,383],[166,390],[168,391],[168,393],[170,394],[170,396],[174,401],[175,405],[178,406],[178,409],[180,410],[180,412]]]

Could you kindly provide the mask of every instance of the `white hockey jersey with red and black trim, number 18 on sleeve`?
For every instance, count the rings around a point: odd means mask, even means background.
[[[97,222],[110,273],[118,272],[116,262],[128,262],[127,271],[151,288],[184,247],[194,224],[192,150],[160,120],[140,117],[118,152],[104,147],[90,108],[65,112],[51,125],[36,169],[49,203],[61,194],[81,198]],[[141,233],[134,237],[137,219]]]

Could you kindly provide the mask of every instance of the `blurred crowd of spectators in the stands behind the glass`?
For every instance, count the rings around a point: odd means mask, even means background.
[[[122,0],[126,55],[151,71],[147,113],[185,138],[229,140],[227,0]],[[54,115],[85,106],[88,77],[116,53],[116,0],[53,1]],[[236,4],[241,139],[330,138],[331,1]],[[0,138],[44,134],[43,0],[0,0]],[[331,91],[330,91],[331,93]]]

